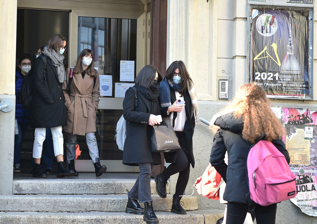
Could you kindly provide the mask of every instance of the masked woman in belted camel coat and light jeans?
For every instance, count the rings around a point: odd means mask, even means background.
[[[69,169],[74,170],[75,176],[78,176],[74,167],[77,135],[86,136],[96,176],[101,176],[107,170],[106,166],[100,165],[98,145],[94,134],[100,80],[98,71],[91,63],[93,60],[94,53],[89,49],[84,49],[79,55],[76,66],[66,70],[67,78],[62,86],[67,111],[67,126],[63,127],[63,130],[67,132],[67,161]]]

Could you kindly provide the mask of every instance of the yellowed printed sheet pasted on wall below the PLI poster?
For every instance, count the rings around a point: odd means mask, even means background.
[[[286,127],[287,125],[285,125]],[[310,164],[310,141],[305,139],[305,132],[301,127],[289,125],[287,127],[286,147],[290,164]]]

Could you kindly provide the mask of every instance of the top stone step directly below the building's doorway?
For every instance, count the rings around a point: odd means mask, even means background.
[[[135,179],[22,179],[13,180],[15,195],[109,195],[127,194]],[[151,192],[157,194],[151,178]],[[170,193],[170,185],[166,192]]]

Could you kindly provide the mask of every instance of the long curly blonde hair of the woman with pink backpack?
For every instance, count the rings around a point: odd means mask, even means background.
[[[242,137],[255,143],[266,133],[265,140],[282,138],[282,124],[270,108],[270,101],[262,87],[255,83],[241,86],[226,109],[235,109],[233,115],[243,120]]]

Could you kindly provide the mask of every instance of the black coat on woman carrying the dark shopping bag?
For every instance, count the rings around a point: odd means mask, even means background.
[[[138,166],[138,163],[161,164],[160,153],[151,151],[151,135],[153,127],[149,125],[150,114],[158,115],[152,111],[150,100],[138,91],[137,106],[135,106],[135,92],[129,88],[123,100],[123,117],[127,121],[126,140],[123,148],[122,163],[130,166]]]

